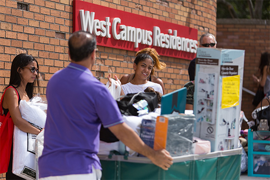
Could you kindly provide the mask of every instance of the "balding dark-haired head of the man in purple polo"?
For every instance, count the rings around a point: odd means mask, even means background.
[[[96,48],[96,37],[86,31],[74,32],[68,40],[70,58],[79,62],[87,58]]]

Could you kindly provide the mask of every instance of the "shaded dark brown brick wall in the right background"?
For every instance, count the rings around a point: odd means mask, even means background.
[[[245,50],[243,87],[253,92],[257,85],[252,75],[258,76],[261,53],[270,52],[270,21],[266,20],[232,20],[219,19],[216,21],[217,48]],[[253,96],[243,91],[242,110],[251,121]],[[243,124],[243,128],[248,128]]]

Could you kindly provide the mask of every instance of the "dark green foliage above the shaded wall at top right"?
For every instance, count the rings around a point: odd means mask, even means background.
[[[216,17],[217,18],[233,18],[229,4],[235,11],[235,18],[251,19],[248,6],[249,0],[217,0]],[[256,0],[252,0],[253,10]],[[263,0],[262,19],[270,19],[270,0]]]

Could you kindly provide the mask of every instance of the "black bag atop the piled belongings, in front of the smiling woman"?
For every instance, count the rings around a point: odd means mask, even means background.
[[[145,100],[148,103],[148,112],[154,111],[158,107],[158,96],[154,92],[138,92],[124,96],[123,99],[117,101],[120,112],[126,116],[137,116],[137,109],[133,106],[140,100]]]

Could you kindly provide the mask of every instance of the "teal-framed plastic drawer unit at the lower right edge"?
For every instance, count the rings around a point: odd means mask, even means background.
[[[270,178],[270,131],[251,131],[248,129],[248,167],[247,176]],[[267,166],[265,166],[267,165]]]

